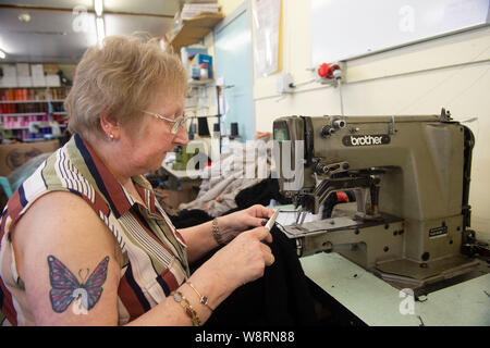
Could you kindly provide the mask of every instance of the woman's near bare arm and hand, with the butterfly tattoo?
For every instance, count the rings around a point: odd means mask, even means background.
[[[17,272],[24,281],[27,300],[37,325],[118,325],[118,287],[121,262],[112,233],[79,197],[51,192],[39,198],[14,228],[13,248]],[[189,278],[216,308],[236,287],[264,274],[273,262],[271,241],[265,228],[248,231],[217,252]],[[234,262],[230,262],[233,260]],[[100,275],[100,296],[89,308],[83,304],[83,289],[68,306],[60,282],[84,283],[94,272]],[[66,281],[66,278],[69,281]],[[66,285],[66,284],[65,284]],[[195,291],[183,284],[181,291],[204,323],[211,311],[199,303]],[[182,306],[168,297],[131,322],[133,325],[191,325]]]

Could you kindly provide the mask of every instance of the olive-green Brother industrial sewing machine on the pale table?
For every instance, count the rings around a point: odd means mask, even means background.
[[[474,136],[441,116],[280,117],[273,123],[282,194],[319,213],[335,191],[356,209],[282,227],[298,254],[339,251],[401,286],[474,270],[468,229]],[[292,169],[289,171],[289,163]]]

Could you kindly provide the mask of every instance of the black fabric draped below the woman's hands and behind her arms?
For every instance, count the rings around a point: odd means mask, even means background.
[[[236,211],[236,210],[233,210]],[[182,212],[181,212],[182,213]],[[212,220],[203,211],[185,211],[185,219],[170,216],[176,228]],[[200,222],[198,222],[200,221]],[[271,231],[274,263],[264,276],[237,288],[205,323],[207,327],[315,326],[317,318],[307,278],[296,256],[295,244],[281,231]],[[199,268],[216,250],[192,265]]]

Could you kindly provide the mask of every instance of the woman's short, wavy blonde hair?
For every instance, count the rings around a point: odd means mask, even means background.
[[[170,96],[185,92],[186,72],[179,58],[163,51],[157,38],[109,36],[76,66],[64,101],[69,130],[84,138],[105,136],[102,112],[121,125],[136,124],[161,88]]]

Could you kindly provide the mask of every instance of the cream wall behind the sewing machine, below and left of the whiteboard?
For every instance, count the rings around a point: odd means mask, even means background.
[[[228,3],[232,12],[238,1]],[[310,1],[283,0],[283,72],[296,83],[310,71]],[[376,23],[376,20],[372,21]],[[326,33],[334,35],[334,33]],[[439,114],[450,110],[468,124],[476,137],[470,187],[471,227],[490,238],[490,28],[465,32],[346,62],[342,87],[345,115]],[[255,78],[257,130],[271,132],[283,115],[340,114],[339,89],[318,84],[302,86],[279,99],[279,74]]]

